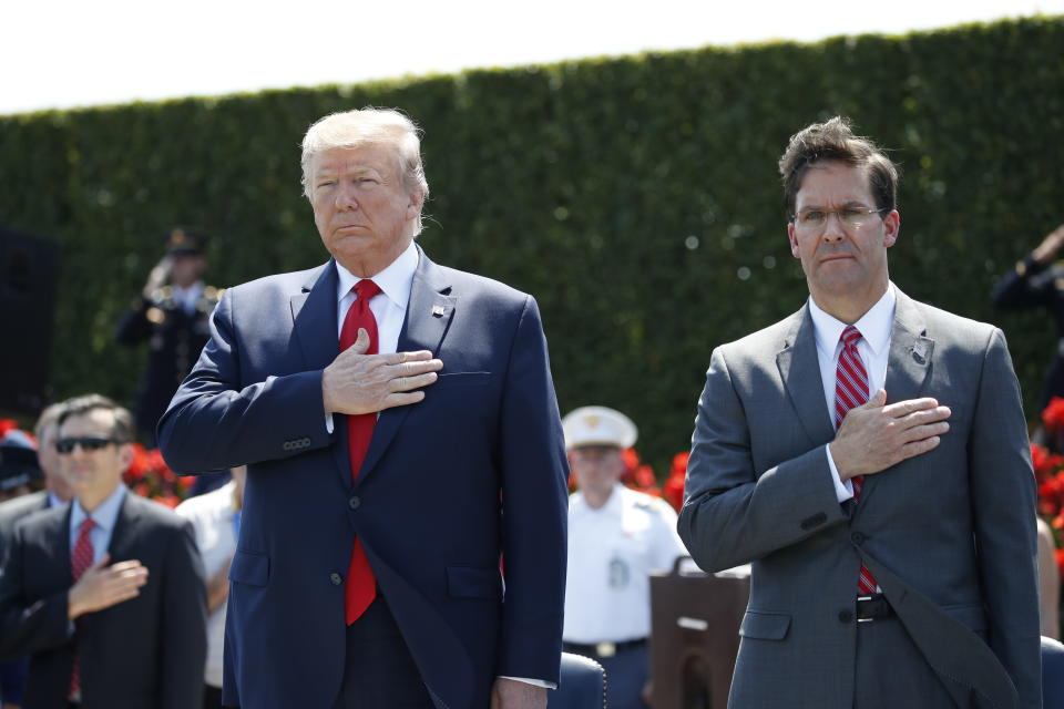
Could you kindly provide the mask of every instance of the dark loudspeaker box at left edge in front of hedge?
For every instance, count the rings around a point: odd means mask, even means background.
[[[47,403],[59,244],[0,226],[0,413]]]

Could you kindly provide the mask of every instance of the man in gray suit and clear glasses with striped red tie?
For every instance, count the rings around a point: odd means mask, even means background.
[[[679,515],[704,569],[753,563],[730,706],[1041,707],[1004,337],[890,282],[898,173],[846,120],[780,172],[810,298],[713,352]]]

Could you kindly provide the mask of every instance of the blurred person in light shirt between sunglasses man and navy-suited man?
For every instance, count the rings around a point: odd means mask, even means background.
[[[207,574],[207,662],[204,672],[203,706],[222,707],[222,650],[225,640],[225,609],[229,596],[229,564],[241,536],[244,507],[244,481],[247,467],[229,471],[232,479],[222,487],[190,497],[175,512],[192,523],[196,545]]]

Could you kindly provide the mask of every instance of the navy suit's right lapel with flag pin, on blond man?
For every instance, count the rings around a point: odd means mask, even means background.
[[[438,357],[447,337],[447,330],[454,317],[458,298],[451,295],[451,282],[443,269],[429,260],[421,247],[418,247],[418,270],[410,286],[410,300],[407,302],[407,316],[399,333],[396,351],[409,352],[429,350]],[[399,431],[411,407],[393,407],[380,412],[374,438],[362,461],[358,475],[359,484],[380,461],[381,455]],[[346,451],[345,451],[346,455]]]

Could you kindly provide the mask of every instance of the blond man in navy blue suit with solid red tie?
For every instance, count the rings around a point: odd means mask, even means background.
[[[567,469],[535,301],[415,244],[398,112],[315,123],[303,182],[332,259],[226,290],[160,422],[176,471],[248,465],[223,703],[542,708]]]

